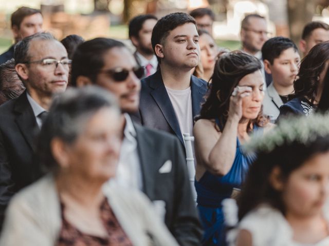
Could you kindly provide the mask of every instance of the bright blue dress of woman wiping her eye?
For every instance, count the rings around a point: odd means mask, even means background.
[[[218,124],[218,120],[216,120]],[[254,131],[257,130],[254,126]],[[197,208],[204,229],[202,245],[226,245],[222,200],[230,198],[233,188],[241,188],[255,154],[245,154],[236,138],[236,153],[230,171],[222,177],[206,171],[194,182],[197,193]]]

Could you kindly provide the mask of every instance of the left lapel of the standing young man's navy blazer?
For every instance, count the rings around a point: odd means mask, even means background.
[[[150,87],[154,89],[151,92],[153,99],[159,106],[163,116],[165,116],[169,126],[173,129],[179,140],[184,144],[174,108],[171,104],[165,84],[163,84],[161,72],[158,70],[150,79]]]

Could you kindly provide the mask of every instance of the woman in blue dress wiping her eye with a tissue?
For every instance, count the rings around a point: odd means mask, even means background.
[[[225,245],[222,200],[240,188],[255,159],[241,145],[252,131],[268,127],[260,61],[240,51],[216,62],[212,86],[193,129],[197,160],[197,207],[205,230],[203,245]]]

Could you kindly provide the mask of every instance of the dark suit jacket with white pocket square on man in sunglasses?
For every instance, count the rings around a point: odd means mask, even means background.
[[[143,192],[166,202],[165,222],[179,245],[200,245],[202,229],[193,201],[186,160],[176,137],[134,124],[143,179]],[[159,173],[163,163],[171,171]]]

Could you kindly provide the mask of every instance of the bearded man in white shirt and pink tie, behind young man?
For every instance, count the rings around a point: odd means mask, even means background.
[[[129,38],[136,47],[134,56],[139,66],[145,68],[145,77],[156,72],[158,60],[154,55],[151,36],[157,17],[143,14],[134,17],[129,23]]]

